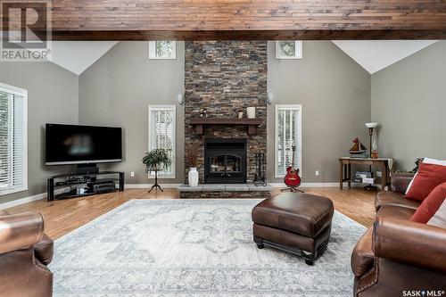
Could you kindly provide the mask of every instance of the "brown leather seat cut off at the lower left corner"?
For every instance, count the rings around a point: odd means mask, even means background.
[[[38,212],[9,214],[0,210],[0,295],[2,297],[49,297],[53,273],[54,243],[44,234]]]

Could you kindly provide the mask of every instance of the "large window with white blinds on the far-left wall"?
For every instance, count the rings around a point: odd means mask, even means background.
[[[0,194],[28,189],[27,97],[0,83]]]

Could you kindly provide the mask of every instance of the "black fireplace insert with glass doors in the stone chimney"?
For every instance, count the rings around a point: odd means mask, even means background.
[[[246,183],[246,139],[204,140],[204,183]]]

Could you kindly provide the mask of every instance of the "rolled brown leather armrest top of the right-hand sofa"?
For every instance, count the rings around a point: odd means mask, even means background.
[[[373,247],[378,258],[446,272],[446,229],[378,216]]]

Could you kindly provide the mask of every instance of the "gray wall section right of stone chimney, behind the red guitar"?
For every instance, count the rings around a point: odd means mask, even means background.
[[[368,145],[370,74],[330,41],[304,41],[303,59],[276,60],[268,42],[268,171],[274,178],[275,104],[302,105],[302,182],[339,180],[338,159],[359,136]],[[315,171],[319,170],[319,176]]]

